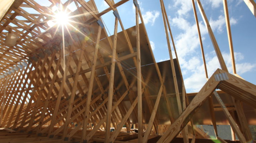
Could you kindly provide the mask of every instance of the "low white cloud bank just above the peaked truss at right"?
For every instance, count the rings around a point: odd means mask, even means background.
[[[251,71],[256,68],[256,63],[248,63],[248,62],[241,62],[244,59],[244,55],[242,53],[234,53],[235,60],[236,60],[236,69],[239,75]],[[230,54],[223,52],[222,53],[227,68],[230,73],[232,73],[232,63]],[[216,71],[217,68],[220,68],[219,60],[215,54],[215,51],[211,52],[210,54],[206,54],[206,66],[208,77],[210,78],[212,74]],[[190,71],[191,75],[184,80],[186,89],[191,92],[198,92],[203,85],[206,83],[206,76],[204,65],[201,60],[200,63],[197,62],[197,58],[193,57],[191,59],[193,62],[188,62],[188,66],[182,66],[182,71]]]

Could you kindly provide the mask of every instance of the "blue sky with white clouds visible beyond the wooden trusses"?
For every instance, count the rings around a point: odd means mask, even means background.
[[[36,1],[43,6],[51,4],[48,0]],[[67,0],[61,1],[66,2]],[[115,2],[118,1],[115,0]],[[256,84],[256,18],[243,0],[227,1],[237,73],[245,80]],[[232,73],[222,0],[201,0],[201,2],[229,72]],[[104,0],[95,0],[95,3],[100,12],[109,7]],[[169,60],[159,0],[139,0],[138,3],[156,61]],[[206,78],[191,0],[164,0],[164,4],[171,25],[186,90],[187,92],[198,92],[206,82]],[[71,3],[68,8],[71,11],[76,10],[74,3]],[[125,29],[135,25],[133,0],[119,6],[118,12]],[[220,65],[198,8],[197,14],[203,38],[208,76],[210,77],[217,68],[220,68]],[[104,14],[102,18],[109,35],[112,35],[114,30],[112,11]],[[121,27],[119,25],[118,32],[120,31]]]

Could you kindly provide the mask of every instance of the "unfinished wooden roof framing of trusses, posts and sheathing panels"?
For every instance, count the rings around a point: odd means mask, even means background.
[[[256,86],[236,73],[226,0],[223,6],[235,76],[228,73],[202,4],[196,0],[222,68],[209,79],[195,1],[191,0],[208,80],[196,95],[186,93],[163,0],[160,6],[170,60],[160,63],[154,59],[136,0],[136,25],[129,29],[123,27],[117,10],[129,0],[105,0],[109,8],[100,13],[94,0],[49,1],[48,7],[34,0],[4,1],[6,7],[0,12],[1,143],[162,143],[180,142],[180,137],[184,143],[206,142],[210,136],[193,124],[193,115],[203,104],[209,107],[216,141],[226,142],[217,132],[216,110],[224,112],[240,142],[252,141],[243,105],[256,108]],[[245,2],[252,11],[255,2]],[[73,12],[67,9],[72,26],[49,25],[55,14],[51,9],[56,5],[66,9],[71,3],[76,6]],[[112,11],[114,33],[108,36],[101,16]],[[7,45],[7,33],[18,36],[14,46]],[[217,80],[217,74],[226,74],[227,79]],[[231,95],[231,108],[219,94]],[[229,113],[232,110],[239,120]]]

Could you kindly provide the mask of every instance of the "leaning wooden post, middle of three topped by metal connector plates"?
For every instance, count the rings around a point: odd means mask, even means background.
[[[117,28],[118,28],[118,18],[116,17],[114,37],[113,37],[114,39],[113,39],[113,49],[112,49],[112,58],[111,58],[110,79],[109,79],[108,108],[106,113],[105,143],[109,143],[109,137],[110,137],[110,120],[111,120],[112,100],[113,100],[114,70],[116,65]]]

